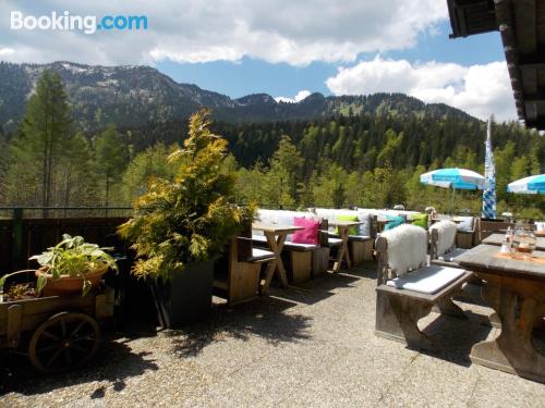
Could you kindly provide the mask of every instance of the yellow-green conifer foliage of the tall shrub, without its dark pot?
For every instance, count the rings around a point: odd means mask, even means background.
[[[208,116],[206,110],[192,115],[183,148],[168,157],[178,168],[174,180],[153,178],[135,201],[135,217],[119,228],[134,243],[138,277],[168,280],[214,258],[253,219],[254,206],[230,203],[235,178],[223,165],[227,141],[209,131]]]

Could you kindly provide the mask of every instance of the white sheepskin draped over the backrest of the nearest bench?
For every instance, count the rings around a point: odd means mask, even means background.
[[[388,240],[388,264],[398,276],[427,264],[427,233],[403,224],[380,234]]]

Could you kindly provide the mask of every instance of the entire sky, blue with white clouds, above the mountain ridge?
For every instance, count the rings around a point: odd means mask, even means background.
[[[146,30],[13,27],[48,18],[145,16]],[[446,0],[2,0],[0,60],[147,64],[238,98],[299,101],[404,92],[486,119],[516,120],[499,33],[449,39]]]

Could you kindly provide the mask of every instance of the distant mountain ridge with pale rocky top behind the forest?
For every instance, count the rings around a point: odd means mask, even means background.
[[[230,123],[328,118],[335,114],[382,113],[471,120],[445,104],[425,104],[397,94],[324,97],[313,94],[299,103],[277,102],[266,94],[231,99],[190,84],[178,84],[149,66],[100,66],[72,62],[12,64],[0,62],[0,126],[13,132],[44,71],[58,73],[64,84],[71,114],[84,132],[104,129],[109,124],[141,126],[185,120],[198,108],[211,109],[217,120]]]

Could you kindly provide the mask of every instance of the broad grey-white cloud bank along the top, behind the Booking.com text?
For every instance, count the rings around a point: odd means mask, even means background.
[[[147,32],[11,30],[10,12],[44,15],[147,15]],[[10,61],[119,64],[238,61],[243,57],[271,63],[305,65],[313,61],[354,61],[361,52],[404,49],[419,33],[433,34],[448,16],[445,1],[374,0],[134,0],[112,2],[0,2],[0,36],[15,52]]]

